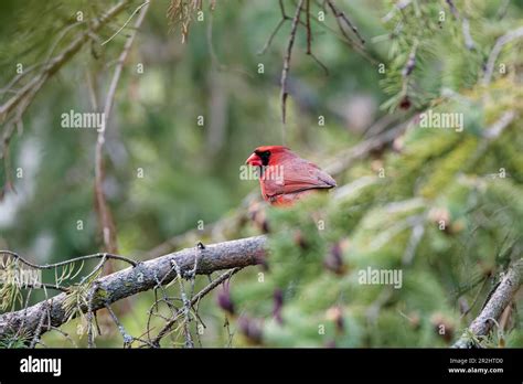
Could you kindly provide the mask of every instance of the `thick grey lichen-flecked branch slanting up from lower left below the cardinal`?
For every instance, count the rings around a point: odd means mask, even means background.
[[[195,273],[209,275],[215,270],[260,264],[265,257],[265,236],[206,245],[198,253],[200,259]],[[173,263],[179,266],[181,275],[186,277],[193,271],[194,257],[196,257],[194,248],[188,248],[99,278],[92,288],[96,289],[90,303],[92,311],[95,312],[115,301],[157,287],[158,276],[164,276],[162,285],[169,284],[177,277],[177,271],[172,268]],[[26,309],[1,314],[0,339],[17,333],[20,327],[23,327],[28,334],[39,333],[40,335],[53,327],[62,326],[68,320],[64,310],[66,297],[67,294],[60,294]],[[88,311],[85,305],[82,305],[81,309],[84,313]],[[41,324],[42,313],[47,313],[47,311],[49,321]]]

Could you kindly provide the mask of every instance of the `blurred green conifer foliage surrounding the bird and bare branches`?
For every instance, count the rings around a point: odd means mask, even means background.
[[[215,295],[204,299],[200,308],[206,326],[200,335],[204,346],[231,344],[224,322],[231,322],[233,345],[445,346],[480,309],[498,273],[510,259],[521,257],[521,40],[500,54],[505,73],[497,71],[488,86],[480,79],[495,40],[521,26],[523,9],[516,1],[503,0],[453,3],[459,18],[446,1],[412,1],[402,10],[394,1],[338,1],[365,36],[369,57],[348,46],[327,9],[324,22],[312,21],[312,51],[328,75],[307,55],[306,31],[299,25],[284,130],[279,81],[290,21],[258,54],[280,20],[277,1],[217,1],[213,11],[204,1],[204,20],[193,14],[184,43],[180,24],[167,17],[170,2],[152,1],[124,66],[106,131],[104,191],[122,255],[158,256],[150,250],[172,236],[198,231],[200,221],[206,226],[225,217],[226,224],[212,233],[182,237],[166,249],[193,246],[196,239],[210,243],[262,233],[243,204],[246,195],[257,193],[258,183],[239,179],[239,167],[260,145],[285,143],[325,167],[372,136],[369,128],[380,119],[405,121],[415,111],[434,107],[462,113],[466,121],[462,134],[416,129],[414,124],[393,148],[351,163],[337,175],[339,185],[375,177],[381,169],[386,177],[341,201],[269,210],[264,218],[270,227],[269,268],[247,268],[232,279],[234,316],[220,308]],[[0,248],[39,264],[102,250],[94,209],[97,132],[64,129],[61,115],[93,110],[88,78],[94,79],[98,103],[105,102],[128,29],[103,46],[100,41],[114,34],[139,4],[131,1],[98,40],[86,44],[23,115],[23,132],[10,142],[7,172],[12,172],[17,192],[6,190],[0,202]],[[297,1],[284,4],[292,15]],[[86,28],[72,26],[56,40],[78,11],[89,20],[109,6],[106,1],[2,1],[0,84],[15,76],[17,64],[30,67],[45,61],[50,50],[66,46]],[[319,17],[321,11],[321,2],[311,1],[312,14]],[[473,50],[465,46],[462,18],[470,22]],[[416,64],[405,79],[402,72],[414,44],[418,44]],[[380,73],[380,63],[385,64],[385,74]],[[3,89],[0,96],[3,104],[10,92]],[[515,110],[516,118],[500,138],[487,142],[482,132],[508,110]],[[319,124],[320,116],[324,125]],[[18,168],[23,169],[22,178],[15,177]],[[509,177],[493,178],[501,168]],[[3,184],[6,169],[1,175]],[[244,220],[228,227],[227,217],[237,217],[238,211]],[[324,233],[311,222],[316,211],[328,223]],[[441,217],[450,230],[438,230]],[[424,232],[413,262],[405,264],[418,222]],[[305,246],[296,241],[297,233],[306,239]],[[330,257],[344,266],[343,271],[324,267]],[[86,266],[86,273],[89,266],[94,264]],[[403,268],[403,288],[389,291],[359,285],[357,270],[367,266]],[[51,273],[44,277],[53,279]],[[205,282],[205,277],[199,277],[198,287]],[[169,289],[177,294],[175,285]],[[284,297],[282,323],[271,318],[278,292]],[[153,295],[126,301],[122,321],[138,337],[145,331]],[[471,312],[463,313],[462,307],[470,306]],[[504,326],[509,345],[523,345],[519,319],[515,311]],[[198,323],[191,324],[195,334]],[[82,327],[82,320],[74,320],[63,329],[85,345]],[[110,322],[103,333],[97,345],[121,345]],[[498,339],[489,342],[498,345]],[[174,332],[166,345],[182,340]],[[55,332],[46,334],[44,342],[70,345]]]

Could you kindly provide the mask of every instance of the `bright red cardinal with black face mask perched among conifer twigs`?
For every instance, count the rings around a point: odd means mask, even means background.
[[[291,205],[308,194],[335,186],[334,179],[287,147],[258,147],[246,163],[259,167],[262,195],[271,205]]]

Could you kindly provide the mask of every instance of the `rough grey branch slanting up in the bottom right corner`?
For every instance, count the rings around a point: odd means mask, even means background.
[[[472,321],[452,348],[477,346],[477,338],[489,334],[492,326],[511,303],[523,284],[523,258],[515,262],[502,277],[480,314]]]

